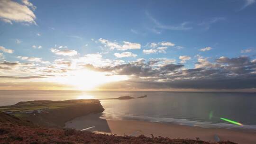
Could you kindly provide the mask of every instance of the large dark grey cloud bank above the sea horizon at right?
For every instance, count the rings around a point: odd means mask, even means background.
[[[220,57],[216,63],[208,61],[206,66],[181,70],[181,64],[165,64],[154,67],[157,61],[144,64],[119,65],[118,74],[135,74],[144,79],[114,82],[102,85],[102,89],[251,89],[256,88],[256,62],[247,56],[237,58]],[[143,69],[144,68],[144,69]],[[154,69],[153,69],[154,68]]]

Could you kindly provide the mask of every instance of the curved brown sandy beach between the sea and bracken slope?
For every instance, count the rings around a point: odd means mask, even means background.
[[[153,134],[154,136],[169,138],[195,139],[199,137],[201,140],[211,142],[215,142],[214,135],[218,135],[220,140],[230,140],[238,144],[256,144],[256,131],[253,130],[201,128],[144,121],[106,120],[100,118],[100,116],[99,114],[90,114],[88,116],[77,117],[67,122],[65,127],[82,130],[95,126],[90,131],[132,136],[151,136]]]

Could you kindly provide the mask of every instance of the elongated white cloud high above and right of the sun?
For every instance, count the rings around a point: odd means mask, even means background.
[[[123,41],[123,45],[119,45],[117,42],[110,42],[109,40],[100,38],[99,41],[101,44],[104,44],[105,47],[109,47],[110,49],[117,49],[121,51],[130,50],[130,49],[140,49],[141,45],[138,43],[131,43],[127,41]]]

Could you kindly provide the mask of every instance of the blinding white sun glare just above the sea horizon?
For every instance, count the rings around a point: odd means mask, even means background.
[[[73,71],[68,76],[55,77],[52,81],[73,85],[78,90],[93,90],[95,87],[114,81],[128,80],[124,75],[106,75],[104,72],[93,72],[89,70]]]

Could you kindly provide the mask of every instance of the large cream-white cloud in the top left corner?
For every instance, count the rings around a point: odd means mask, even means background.
[[[0,19],[12,24],[13,21],[25,24],[35,24],[36,15],[27,6],[35,8],[28,0],[22,1],[25,5],[12,0],[0,0]]]

